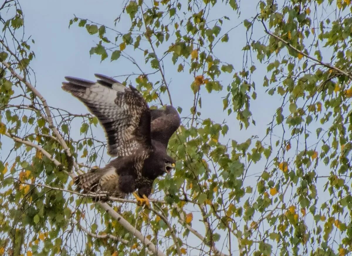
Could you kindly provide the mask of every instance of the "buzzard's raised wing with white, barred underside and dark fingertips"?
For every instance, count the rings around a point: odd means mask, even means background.
[[[82,101],[105,130],[111,156],[132,155],[150,147],[150,110],[134,87],[95,74],[97,82],[65,77],[62,89]]]

